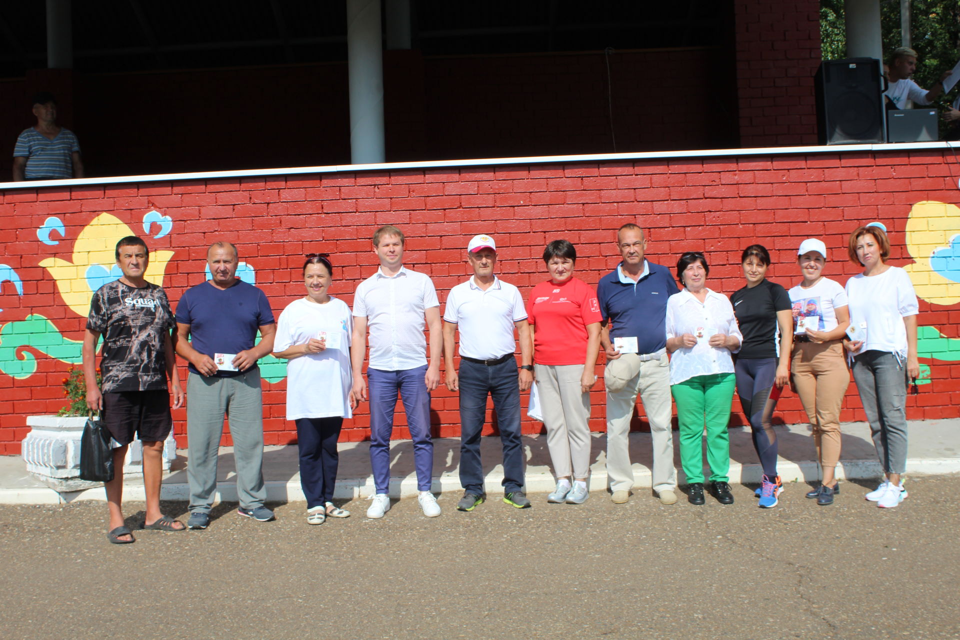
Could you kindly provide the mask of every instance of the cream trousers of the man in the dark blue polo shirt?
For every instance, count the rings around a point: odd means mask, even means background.
[[[637,356],[624,354],[621,358]],[[630,462],[630,421],[634,417],[636,395],[650,421],[653,439],[653,486],[660,493],[677,487],[673,466],[673,432],[670,418],[673,399],[670,394],[670,364],[666,353],[660,360],[640,363],[640,370],[620,391],[607,390],[607,475],[612,491],[629,491],[634,486],[634,467]]]

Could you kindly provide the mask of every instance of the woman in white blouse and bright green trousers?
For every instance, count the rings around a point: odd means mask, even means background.
[[[710,269],[699,251],[687,251],[677,261],[684,290],[666,303],[666,349],[670,356],[670,391],[677,402],[680,459],[692,505],[704,504],[703,433],[707,427],[710,493],[730,505],[730,422],[736,386],[731,352],[743,336],[727,296],[707,287]]]

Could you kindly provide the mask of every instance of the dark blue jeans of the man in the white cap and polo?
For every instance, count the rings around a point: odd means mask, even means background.
[[[487,395],[493,398],[496,426],[503,445],[503,489],[523,487],[523,446],[520,442],[520,388],[516,358],[487,367],[460,362],[460,484],[483,494],[480,434],[487,414]]]

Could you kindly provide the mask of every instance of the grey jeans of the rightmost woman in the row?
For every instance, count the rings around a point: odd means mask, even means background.
[[[906,471],[906,367],[889,351],[853,360],[853,381],[870,422],[876,457],[887,473]]]

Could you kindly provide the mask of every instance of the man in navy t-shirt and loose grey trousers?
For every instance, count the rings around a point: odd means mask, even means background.
[[[237,279],[238,259],[231,243],[211,245],[206,252],[211,279],[188,289],[177,305],[177,353],[190,363],[190,529],[210,523],[225,414],[237,467],[237,512],[261,522],[274,519],[263,505],[263,400],[256,361],[274,349],[276,322],[267,296]],[[257,331],[260,342],[254,344]]]

